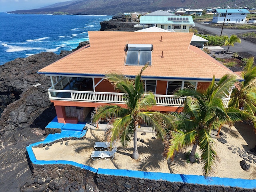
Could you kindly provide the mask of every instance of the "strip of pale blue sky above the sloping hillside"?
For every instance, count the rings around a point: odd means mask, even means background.
[[[0,12],[36,9],[68,0],[0,0]]]

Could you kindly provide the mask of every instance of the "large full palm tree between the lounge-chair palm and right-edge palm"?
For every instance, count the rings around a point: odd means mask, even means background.
[[[234,76],[223,76],[216,84],[213,78],[206,90],[191,86],[178,90],[175,94],[187,96],[184,109],[180,114],[169,114],[169,120],[176,125],[168,132],[164,154],[168,160],[182,148],[192,144],[190,162],[195,162],[196,149],[202,153],[203,173],[205,177],[214,174],[218,156],[214,150],[211,130],[218,129],[222,124],[240,121],[243,112],[238,108],[225,108],[221,98],[226,88],[234,85]]]

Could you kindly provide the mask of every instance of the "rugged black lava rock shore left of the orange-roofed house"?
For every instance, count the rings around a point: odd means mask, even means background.
[[[70,53],[42,52],[0,66],[0,191],[19,192],[33,180],[26,146],[45,138],[44,128],[56,116],[47,92],[50,78],[36,72]]]

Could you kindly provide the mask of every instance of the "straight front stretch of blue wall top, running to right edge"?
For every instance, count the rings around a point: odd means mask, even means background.
[[[226,187],[239,187],[254,189],[256,188],[256,180],[233,179],[233,178],[220,178],[212,177],[205,179],[204,176],[198,175],[184,175],[184,174],[170,174],[161,172],[143,172],[133,170],[116,170],[116,169],[102,169],[98,168],[97,174],[113,175],[113,176],[126,176],[150,180],[166,180],[169,182],[182,182],[189,184],[202,184],[202,185],[216,185]]]

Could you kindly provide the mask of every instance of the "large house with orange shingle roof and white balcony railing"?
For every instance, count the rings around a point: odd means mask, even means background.
[[[84,121],[100,105],[125,106],[123,93],[116,92],[104,79],[113,70],[134,78],[149,62],[142,79],[145,90],[155,94],[156,106],[151,110],[162,112],[182,110],[185,98],[173,95],[177,88],[194,85],[203,89],[214,75],[220,79],[234,74],[190,45],[193,33],[89,31],[88,36],[89,45],[38,71],[50,76],[52,87],[48,94],[60,123]],[[222,98],[225,105],[231,91],[227,90],[226,98]]]

